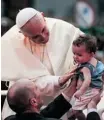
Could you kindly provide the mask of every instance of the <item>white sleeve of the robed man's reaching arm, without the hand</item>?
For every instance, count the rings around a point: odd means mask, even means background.
[[[38,77],[34,80],[37,89],[39,89],[42,94],[47,96],[54,96],[60,89],[59,79],[60,76],[43,76]]]

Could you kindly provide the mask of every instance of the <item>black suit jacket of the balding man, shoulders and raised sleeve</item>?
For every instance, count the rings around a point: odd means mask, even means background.
[[[5,120],[56,120],[61,118],[72,106],[65,100],[62,95],[59,95],[51,102],[40,114],[37,113],[22,113],[11,115]]]

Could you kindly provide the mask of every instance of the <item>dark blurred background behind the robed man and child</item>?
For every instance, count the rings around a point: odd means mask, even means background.
[[[104,62],[104,0],[1,0],[1,35],[15,24],[19,10],[33,7],[47,17],[63,19],[97,37],[96,57]],[[8,83],[2,82],[6,90]],[[2,96],[1,108],[5,96]]]

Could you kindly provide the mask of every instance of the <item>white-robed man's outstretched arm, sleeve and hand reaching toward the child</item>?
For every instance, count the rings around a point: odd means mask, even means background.
[[[62,76],[46,75],[34,80],[37,88],[45,95],[54,96],[62,86],[71,78],[73,71]]]

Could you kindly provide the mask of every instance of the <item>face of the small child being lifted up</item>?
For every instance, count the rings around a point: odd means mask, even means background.
[[[80,45],[79,47],[73,45],[72,51],[74,54],[74,56],[73,56],[74,61],[78,64],[88,62],[91,59],[91,57],[93,56],[93,53],[88,53],[86,51],[86,47],[84,45]]]

